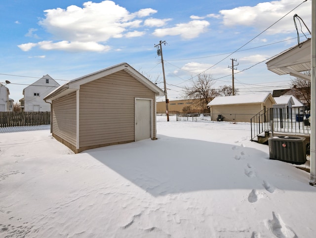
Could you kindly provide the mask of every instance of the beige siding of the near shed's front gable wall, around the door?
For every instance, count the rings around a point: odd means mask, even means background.
[[[124,71],[81,85],[79,147],[134,141],[135,97],[151,98],[155,104],[155,93]]]

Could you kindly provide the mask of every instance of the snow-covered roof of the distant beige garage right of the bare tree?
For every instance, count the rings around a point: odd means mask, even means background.
[[[230,105],[230,104],[248,104],[248,103],[264,103],[270,98],[274,103],[270,93],[267,94],[253,94],[253,95],[234,95],[234,96],[218,96],[211,100],[207,106],[214,105]]]

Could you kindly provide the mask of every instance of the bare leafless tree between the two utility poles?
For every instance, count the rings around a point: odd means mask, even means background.
[[[207,103],[211,101],[215,96],[218,96],[218,92],[213,88],[215,80],[209,74],[199,74],[197,79],[190,79],[191,86],[184,87],[183,93],[185,97],[196,99],[196,103],[199,103],[203,111],[209,111]]]

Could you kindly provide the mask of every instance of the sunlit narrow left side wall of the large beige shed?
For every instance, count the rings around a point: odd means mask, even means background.
[[[52,102],[52,133],[76,148],[76,92]]]

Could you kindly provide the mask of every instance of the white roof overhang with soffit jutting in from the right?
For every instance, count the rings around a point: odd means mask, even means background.
[[[311,39],[284,50],[266,64],[270,71],[278,75],[289,74],[311,81],[311,76],[301,73],[311,70]]]

